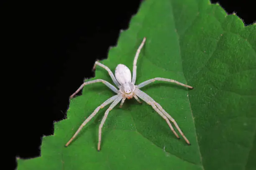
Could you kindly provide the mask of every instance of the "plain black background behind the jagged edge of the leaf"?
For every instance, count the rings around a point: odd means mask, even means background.
[[[255,22],[252,1],[218,2],[245,25]],[[11,104],[10,117],[2,118],[2,123],[7,123],[2,134],[8,133],[7,145],[2,146],[7,146],[5,158],[11,158],[6,169],[17,166],[15,156],[40,155],[41,137],[52,135],[53,122],[66,117],[69,96],[85,77],[94,76],[95,60],[107,58],[108,48],[116,45],[120,30],[128,28],[139,5],[140,0],[8,4],[10,9],[3,15],[7,39],[2,47],[11,67],[3,73],[15,84],[13,89],[11,85],[6,88],[13,92],[11,99],[5,100]]]

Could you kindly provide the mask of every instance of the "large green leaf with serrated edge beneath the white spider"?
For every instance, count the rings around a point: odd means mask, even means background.
[[[101,83],[70,102],[67,120],[44,137],[41,157],[18,160],[18,170],[254,170],[256,169],[256,25],[244,27],[208,0],[146,0],[101,61],[132,70],[143,37],[136,84],[165,77],[195,87],[154,82],[141,90],[179,124],[192,145],[178,140],[151,106],[126,100],[110,111],[97,152],[100,110],[64,148],[94,109],[114,93]],[[112,83],[97,67],[94,79]],[[113,83],[112,83],[113,84]]]

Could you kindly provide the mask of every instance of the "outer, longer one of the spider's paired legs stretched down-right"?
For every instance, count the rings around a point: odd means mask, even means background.
[[[151,105],[153,107],[153,105],[155,105],[156,107],[158,107],[159,111],[162,112],[169,120],[171,120],[174,124],[174,126],[177,128],[177,130],[179,131],[179,133],[182,135],[182,137],[184,138],[184,140],[186,141],[186,143],[188,145],[190,145],[189,140],[186,138],[186,136],[184,135],[184,133],[182,132],[182,130],[179,128],[177,122],[161,107],[161,105],[159,105],[154,99],[152,99],[149,95],[147,95],[145,92],[141,91],[141,90],[137,90],[136,91],[138,95],[138,97],[140,97],[141,99],[143,99],[145,102],[147,102],[149,105]],[[154,107],[153,107],[154,108]],[[155,108],[154,108],[155,109]],[[156,110],[157,111],[157,110]],[[159,112],[158,112],[159,113]],[[160,115],[160,113],[159,113]],[[174,133],[175,134],[175,133]]]

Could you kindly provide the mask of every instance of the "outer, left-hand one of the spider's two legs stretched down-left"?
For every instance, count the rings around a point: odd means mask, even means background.
[[[105,107],[106,105],[110,104],[111,102],[113,102],[116,98],[118,97],[118,95],[114,95],[113,97],[110,97],[108,100],[106,100],[105,102],[103,102],[100,106],[98,106],[93,112],[92,114],[87,117],[86,120],[84,120],[84,122],[82,123],[82,125],[80,125],[80,127],[78,128],[77,132],[73,135],[73,137],[67,142],[67,144],[65,145],[66,147],[72,142],[72,140],[74,140],[74,138],[78,135],[78,133],[82,130],[82,128],[92,119],[92,117],[94,117],[96,115],[96,113],[102,109],[103,107]]]

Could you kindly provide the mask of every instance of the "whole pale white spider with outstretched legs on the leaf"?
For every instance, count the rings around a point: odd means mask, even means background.
[[[167,124],[169,125],[169,127],[171,128],[172,132],[174,133],[174,135],[176,135],[176,137],[179,139],[178,134],[174,131],[174,128],[172,127],[172,124],[170,123],[169,120],[172,121],[172,123],[174,124],[174,126],[177,128],[177,130],[179,131],[179,133],[182,135],[182,137],[184,138],[184,140],[187,142],[187,144],[190,145],[189,140],[187,140],[187,138],[184,136],[184,134],[182,133],[182,131],[180,130],[178,124],[175,122],[175,120],[161,107],[161,105],[159,105],[157,102],[155,102],[149,95],[147,95],[145,92],[141,91],[140,88],[144,87],[145,85],[148,85],[151,82],[154,82],[156,80],[159,81],[166,81],[166,82],[175,82],[178,85],[182,85],[184,87],[188,87],[188,88],[193,88],[189,85],[184,85],[180,82],[177,82],[175,80],[171,80],[171,79],[167,79],[167,78],[153,78],[150,80],[146,80],[144,82],[141,82],[141,84],[139,85],[134,85],[135,81],[136,81],[136,70],[137,70],[137,60],[138,60],[138,55],[141,51],[141,48],[143,47],[144,43],[146,41],[146,37],[143,38],[143,41],[141,42],[141,45],[138,47],[138,50],[136,52],[134,61],[133,61],[133,77],[131,76],[131,71],[129,70],[128,67],[126,67],[123,64],[118,64],[118,66],[115,68],[115,76],[113,75],[113,73],[110,71],[110,69],[101,64],[100,62],[95,62],[95,65],[93,67],[93,69],[95,69],[96,65],[99,65],[100,67],[103,67],[105,70],[108,71],[110,77],[112,78],[113,82],[115,83],[115,85],[119,88],[119,90],[114,87],[113,85],[111,85],[109,82],[102,80],[102,79],[97,79],[97,80],[92,80],[92,81],[88,81],[88,82],[84,82],[78,89],[76,92],[74,92],[74,94],[72,94],[70,96],[70,98],[74,97],[74,95],[77,94],[77,92],[79,92],[85,85],[89,85],[95,82],[102,82],[104,83],[106,86],[108,86],[111,90],[113,90],[115,93],[117,93],[117,95],[114,95],[113,97],[110,97],[108,100],[106,100],[105,102],[103,102],[100,106],[98,106],[94,112],[92,112],[92,114],[87,117],[87,119],[82,123],[82,125],[79,127],[79,129],[77,130],[77,132],[73,135],[73,137],[68,141],[68,143],[66,144],[66,147],[72,142],[72,140],[77,136],[77,134],[80,132],[80,130],[82,130],[82,128],[87,124],[87,122],[89,122],[92,117],[94,117],[96,115],[96,113],[103,107],[105,107],[106,105],[110,104],[112,102],[112,104],[110,105],[110,107],[108,107],[108,110],[105,112],[105,115],[103,117],[103,119],[100,122],[100,127],[99,127],[99,142],[98,142],[98,151],[100,150],[100,141],[101,141],[101,130],[102,130],[102,126],[104,125],[105,120],[108,117],[108,113],[110,110],[113,109],[113,107],[115,107],[118,102],[120,102],[121,100],[121,104],[120,107],[122,107],[124,101],[126,98],[131,99],[131,98],[135,98],[139,103],[141,103],[141,101],[138,99],[141,98],[142,100],[144,100],[146,103],[148,103],[149,105],[151,105],[154,110],[156,110],[156,112],[163,117]]]

